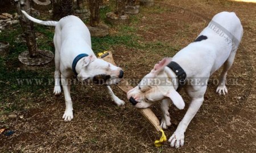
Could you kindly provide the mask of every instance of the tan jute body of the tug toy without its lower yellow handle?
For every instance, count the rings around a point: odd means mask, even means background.
[[[104,54],[101,54],[98,58],[104,59],[105,61],[112,63],[113,65],[116,65],[113,59],[113,54],[112,52],[107,52]],[[129,85],[129,83],[125,80],[122,79],[122,81],[119,83],[118,87],[125,92],[125,94],[131,90],[133,87]],[[160,127],[160,122],[158,118],[155,116],[154,112],[151,111],[150,108],[145,108],[145,109],[138,109],[139,112],[147,119],[147,121],[150,122],[152,126],[156,129],[156,131],[160,131],[162,128]]]

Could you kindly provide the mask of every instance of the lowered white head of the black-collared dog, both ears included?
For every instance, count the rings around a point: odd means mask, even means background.
[[[174,105],[183,109],[185,103],[180,94],[175,90],[172,83],[170,72],[168,72],[168,63],[171,58],[164,58],[154,66],[138,86],[127,92],[127,98],[137,108],[147,108],[156,101],[169,97]],[[170,70],[169,70],[170,71]]]

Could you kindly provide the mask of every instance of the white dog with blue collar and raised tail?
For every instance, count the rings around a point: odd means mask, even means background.
[[[98,59],[92,50],[90,32],[86,25],[76,16],[65,16],[59,22],[38,20],[25,11],[23,14],[32,22],[55,26],[55,87],[53,93],[59,95],[60,76],[63,86],[66,109],[65,121],[73,119],[73,107],[70,95],[70,78],[74,74],[81,82],[110,85],[118,83],[123,77],[123,70],[109,62]],[[109,86],[104,86],[117,105],[125,104],[114,95]]]

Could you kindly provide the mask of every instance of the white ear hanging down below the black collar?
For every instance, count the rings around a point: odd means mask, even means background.
[[[180,96],[180,94],[177,91],[172,90],[172,91],[168,92],[166,96],[170,97],[170,99],[172,100],[172,103],[174,103],[174,105],[177,108],[184,109],[184,107],[185,107],[184,100],[182,99],[182,97]]]

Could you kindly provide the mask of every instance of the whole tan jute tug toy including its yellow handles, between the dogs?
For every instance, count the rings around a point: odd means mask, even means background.
[[[116,65],[113,59],[113,54],[112,52],[105,51],[103,53],[98,53],[98,58],[104,59],[105,61],[112,63],[113,65]],[[129,86],[129,83],[125,80],[122,79],[121,82],[118,83],[117,85],[125,94],[131,90],[133,87]],[[121,85],[120,85],[121,84]],[[166,135],[164,134],[164,131],[160,127],[160,122],[158,118],[155,116],[155,114],[151,111],[150,108],[145,108],[145,109],[139,109],[139,112],[150,122],[152,126],[156,129],[156,131],[160,131],[162,133],[162,137],[159,140],[155,141],[155,146],[160,147],[163,145],[164,142],[167,141]]]

